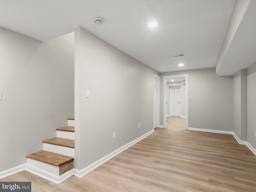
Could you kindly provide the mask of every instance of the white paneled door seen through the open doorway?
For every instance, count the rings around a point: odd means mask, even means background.
[[[180,86],[170,87],[170,114],[180,116]]]

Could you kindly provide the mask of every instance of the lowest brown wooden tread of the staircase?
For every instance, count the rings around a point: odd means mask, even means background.
[[[40,162],[44,162],[53,166],[60,167],[64,164],[73,162],[74,158],[53,153],[53,152],[48,152],[48,151],[38,151],[32,154],[26,155],[27,158],[34,159]]]

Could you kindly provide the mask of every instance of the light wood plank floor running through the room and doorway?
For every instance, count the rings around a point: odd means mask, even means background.
[[[32,192],[255,192],[256,156],[232,135],[185,130],[185,118],[57,185],[27,171],[0,181],[32,181]]]

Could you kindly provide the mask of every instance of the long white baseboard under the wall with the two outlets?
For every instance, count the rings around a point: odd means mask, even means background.
[[[120,152],[126,150],[127,148],[129,148],[130,146],[134,145],[135,143],[139,142],[140,140],[146,138],[147,136],[149,136],[150,134],[152,134],[154,132],[154,129],[147,132],[146,134],[140,136],[139,138],[131,141],[128,144],[125,144],[124,146],[118,148],[117,150],[114,150],[113,152],[111,152],[110,154],[102,157],[101,159],[99,159],[98,161],[94,162],[93,164],[90,164],[89,166],[87,166],[86,168],[82,169],[82,170],[78,170],[75,169],[75,176],[81,178],[82,176],[86,175],[88,172],[94,170],[95,168],[97,168],[98,166],[100,166],[101,164],[103,164],[104,162],[106,162],[107,160],[109,160],[110,158],[116,156],[117,154],[119,154]]]

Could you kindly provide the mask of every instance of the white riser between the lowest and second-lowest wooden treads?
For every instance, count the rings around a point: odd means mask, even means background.
[[[70,156],[70,157],[75,156],[75,149],[70,148],[70,147],[63,147],[63,146],[43,143],[43,150],[53,152],[53,153],[62,154],[62,155],[66,155],[66,156]]]

